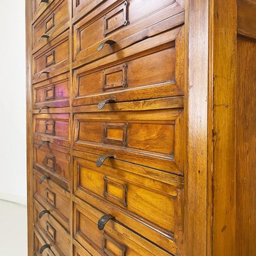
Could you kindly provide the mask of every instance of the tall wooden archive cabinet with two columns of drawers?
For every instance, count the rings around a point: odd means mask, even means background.
[[[256,255],[255,17],[26,0],[29,256]]]

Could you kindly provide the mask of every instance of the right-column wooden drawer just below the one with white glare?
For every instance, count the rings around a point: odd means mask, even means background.
[[[184,51],[183,34],[183,28],[174,29],[168,33],[167,44],[166,36],[161,35],[152,49],[146,40],[125,49],[124,54],[120,53],[122,58],[108,56],[77,68],[73,105],[97,104],[106,99],[119,102],[183,95],[184,58],[180,55]],[[149,52],[145,51],[148,47]],[[102,65],[104,68],[100,68]]]

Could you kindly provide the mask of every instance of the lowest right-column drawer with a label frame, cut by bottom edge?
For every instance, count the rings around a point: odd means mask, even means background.
[[[109,220],[104,230],[99,230],[98,221],[106,212],[77,198],[74,201],[74,238],[92,255],[170,256],[117,221]]]

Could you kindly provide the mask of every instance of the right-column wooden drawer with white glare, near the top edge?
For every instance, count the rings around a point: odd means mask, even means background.
[[[73,60],[84,58],[87,62],[102,58],[179,26],[184,23],[183,11],[175,0],[160,0],[156,4],[153,1],[104,1],[74,24]],[[170,17],[173,18],[166,22]]]

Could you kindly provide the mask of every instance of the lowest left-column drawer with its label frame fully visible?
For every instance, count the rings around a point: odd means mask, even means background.
[[[45,208],[38,202],[34,202],[34,221],[35,226],[54,244],[63,255],[70,256],[70,235],[56,221],[51,213],[43,214]]]

